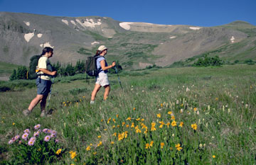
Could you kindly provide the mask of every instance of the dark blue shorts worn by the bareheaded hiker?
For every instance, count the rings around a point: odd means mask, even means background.
[[[48,96],[48,93],[50,92],[51,81],[44,79],[40,80],[40,78],[37,78],[36,86],[38,89],[37,94]]]

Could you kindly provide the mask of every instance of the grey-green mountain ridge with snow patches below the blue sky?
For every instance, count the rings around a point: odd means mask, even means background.
[[[55,50],[53,62],[75,64],[94,55],[99,45],[106,45],[110,47],[107,59],[119,60],[124,68],[139,69],[150,64],[165,67],[245,40],[250,42],[250,50],[255,47],[255,29],[245,21],[200,27],[127,23],[100,16],[0,12],[0,61],[28,66],[31,56],[51,46]]]

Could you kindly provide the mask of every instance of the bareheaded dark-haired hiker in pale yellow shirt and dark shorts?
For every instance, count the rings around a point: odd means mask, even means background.
[[[40,102],[41,106],[41,117],[46,115],[46,98],[48,93],[50,92],[50,86],[52,82],[50,81],[50,76],[54,76],[57,74],[56,71],[50,71],[47,69],[47,66],[50,65],[49,58],[53,57],[53,48],[51,47],[44,47],[41,57],[38,59],[38,77],[36,79],[36,86],[37,86],[37,95],[36,98],[33,98],[28,109],[23,110],[23,115],[29,115],[33,108]]]

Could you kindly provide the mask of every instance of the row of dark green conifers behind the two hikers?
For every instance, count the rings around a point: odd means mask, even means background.
[[[122,67],[117,61],[116,63],[117,71],[121,72]],[[75,74],[84,74],[85,73],[85,60],[78,60],[78,62],[73,66],[72,64],[60,64],[57,62],[53,64],[53,70],[57,71],[57,76],[74,76]],[[36,72],[36,71],[35,71]],[[115,69],[109,69],[109,73],[113,74]],[[16,79],[32,79],[28,74],[28,68],[25,66],[18,67],[14,69],[11,76],[9,77],[11,81]]]

